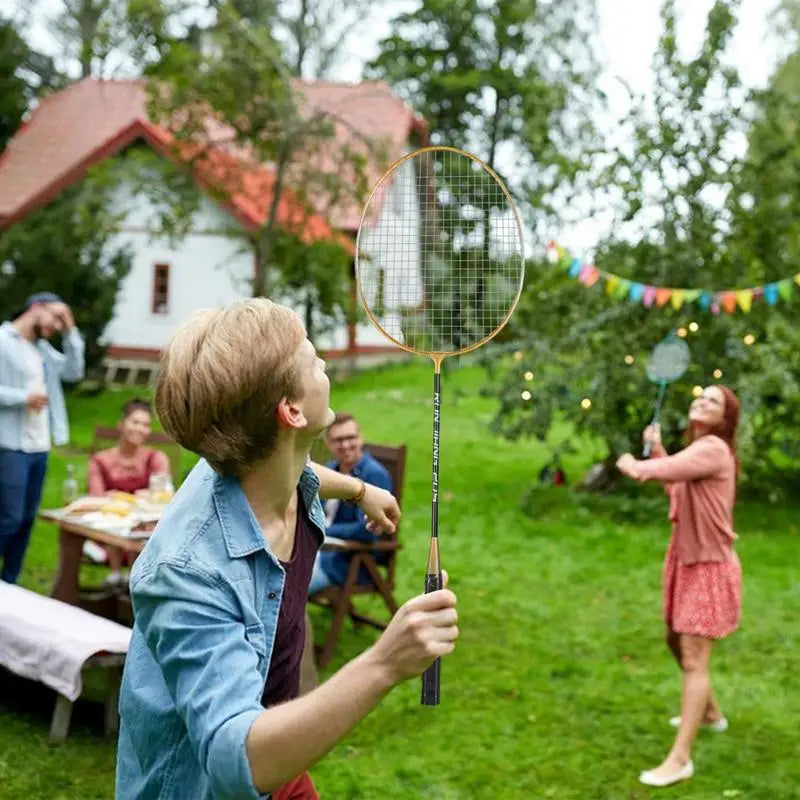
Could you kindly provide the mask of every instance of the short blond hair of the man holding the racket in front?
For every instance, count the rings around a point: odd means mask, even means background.
[[[294,311],[263,297],[199,312],[161,358],[162,426],[217,472],[240,475],[274,447],[280,401],[302,395],[296,355],[305,335]]]

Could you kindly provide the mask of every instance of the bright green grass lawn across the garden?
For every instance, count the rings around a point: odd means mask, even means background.
[[[731,720],[701,733],[697,776],[649,790],[639,771],[666,753],[679,676],[662,644],[660,570],[667,540],[658,492],[635,503],[563,489],[520,501],[546,451],[492,438],[491,400],[474,368],[444,376],[441,547],[459,596],[462,637],[442,668],[442,705],[419,705],[419,682],[396,689],[313,770],[323,798],[800,798],[800,608],[794,509],[741,504],[745,571],[741,630],[714,657]],[[423,582],[429,536],[431,368],[365,373],[334,386],[334,406],[368,438],[409,446],[398,597]],[[125,393],[73,398],[76,444],[110,423]],[[575,479],[591,459],[566,459]],[[85,456],[72,456],[85,467]],[[57,504],[66,459],[55,454],[46,504]],[[38,525],[23,583],[49,588],[55,533]],[[327,624],[313,610],[318,636]],[[349,623],[332,668],[374,639]],[[113,794],[114,745],[101,710],[79,704],[73,732],[48,743],[50,696],[0,677],[0,797],[93,800]],[[90,684],[90,694],[95,687]],[[190,800],[190,799],[187,799]]]

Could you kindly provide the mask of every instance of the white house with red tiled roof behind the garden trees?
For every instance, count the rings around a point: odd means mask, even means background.
[[[426,142],[424,121],[382,82],[298,82],[297,88],[310,106],[334,116],[346,115],[346,120],[336,125],[332,148],[337,143],[352,146],[354,136],[380,143],[386,159],[385,163],[370,164],[373,182],[388,163]],[[147,118],[145,90],[139,81],[87,78],[47,97],[0,156],[0,230],[81,180],[91,166],[142,144],[165,158],[173,157],[169,132]],[[335,149],[324,158],[336,168]],[[197,174],[199,209],[191,232],[176,245],[154,236],[153,209],[147,199],[130,186],[123,184],[118,189],[125,217],[113,244],[129,245],[134,257],[104,333],[111,359],[155,360],[175,327],[192,311],[220,307],[250,295],[253,256],[225,231],[232,226],[242,230],[257,227],[266,219],[272,173],[269,166],[255,169],[253,193],[236,194],[226,205],[203,191],[204,175]],[[399,180],[412,177],[401,171]],[[396,219],[392,192],[389,186],[384,193],[378,225],[391,225]],[[296,211],[291,196],[282,199],[279,223],[288,224]],[[344,205],[329,209],[325,217],[305,215],[304,236],[347,237],[352,242],[360,214],[360,208]],[[379,263],[379,254],[374,256]],[[386,280],[390,283],[389,276]],[[391,308],[390,302],[387,307]],[[396,351],[368,322],[348,325],[342,321],[317,344],[328,358]]]

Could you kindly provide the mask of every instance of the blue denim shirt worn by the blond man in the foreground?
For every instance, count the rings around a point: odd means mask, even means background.
[[[321,543],[309,467],[299,488]],[[284,577],[238,479],[200,461],[131,573],[116,800],[262,797],[245,743],[264,711]]]

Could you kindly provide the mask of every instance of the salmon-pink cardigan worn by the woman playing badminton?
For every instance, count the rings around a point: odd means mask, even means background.
[[[733,530],[736,460],[719,436],[702,436],[674,456],[660,449],[636,461],[633,477],[659,480],[670,495],[670,519],[681,562],[728,561]]]

